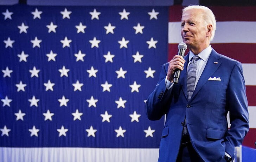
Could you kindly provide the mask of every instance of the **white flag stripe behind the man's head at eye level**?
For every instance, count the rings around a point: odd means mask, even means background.
[[[211,43],[256,43],[255,21],[220,21]],[[180,22],[169,22],[168,43],[182,42]]]

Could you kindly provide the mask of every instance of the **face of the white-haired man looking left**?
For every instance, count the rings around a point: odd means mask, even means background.
[[[207,42],[207,26],[202,9],[188,9],[181,18],[181,36],[188,48],[200,48]]]

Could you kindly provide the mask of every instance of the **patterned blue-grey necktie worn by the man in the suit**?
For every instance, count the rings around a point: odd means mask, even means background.
[[[192,58],[191,63],[188,66],[187,69],[187,99],[188,101],[191,99],[194,87],[196,83],[196,76],[197,76],[197,60],[199,59],[199,56],[196,55]],[[183,135],[187,134],[187,122],[186,117],[184,121],[184,128],[183,128]]]

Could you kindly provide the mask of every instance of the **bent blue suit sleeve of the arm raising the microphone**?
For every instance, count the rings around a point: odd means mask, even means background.
[[[146,114],[149,120],[161,119],[162,115],[166,114],[169,107],[168,98],[171,95],[173,86],[169,90],[166,89],[166,67],[168,67],[168,63],[162,65],[159,81],[146,102]]]

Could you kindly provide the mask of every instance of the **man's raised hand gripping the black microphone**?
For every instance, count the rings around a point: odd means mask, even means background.
[[[167,72],[167,80],[173,83],[174,72],[175,70],[183,70],[185,59],[179,55],[175,55],[171,61],[169,61],[168,72]]]

